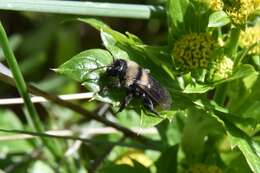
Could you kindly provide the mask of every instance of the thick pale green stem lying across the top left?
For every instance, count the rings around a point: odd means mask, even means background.
[[[162,6],[58,0],[2,0],[1,10],[149,19],[162,16]]]

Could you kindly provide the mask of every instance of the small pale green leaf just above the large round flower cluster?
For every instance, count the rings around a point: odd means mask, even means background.
[[[224,11],[216,11],[209,16],[208,27],[222,27],[230,23],[230,18]]]

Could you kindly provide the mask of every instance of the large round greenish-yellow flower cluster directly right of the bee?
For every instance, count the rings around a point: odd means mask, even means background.
[[[172,54],[182,69],[208,68],[216,45],[217,42],[206,33],[191,33],[176,41]]]

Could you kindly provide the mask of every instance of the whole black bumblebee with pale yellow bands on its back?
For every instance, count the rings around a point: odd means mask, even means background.
[[[118,112],[122,111],[133,97],[142,98],[144,106],[157,115],[155,106],[170,108],[172,99],[169,92],[149,74],[149,70],[141,68],[137,63],[117,59],[108,66],[106,73],[118,77],[120,86],[127,90],[127,96],[121,102]]]

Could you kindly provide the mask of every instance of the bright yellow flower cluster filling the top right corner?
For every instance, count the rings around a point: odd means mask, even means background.
[[[226,11],[235,24],[243,25],[258,7],[259,0],[234,0]]]

